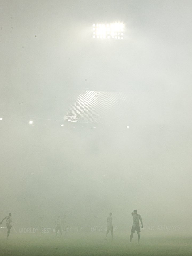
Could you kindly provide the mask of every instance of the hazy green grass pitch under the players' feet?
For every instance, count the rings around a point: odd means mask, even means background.
[[[191,237],[141,237],[129,243],[128,236],[116,236],[105,241],[102,235],[1,235],[0,255],[192,255]]]

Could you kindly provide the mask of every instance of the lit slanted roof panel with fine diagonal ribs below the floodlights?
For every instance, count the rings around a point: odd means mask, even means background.
[[[63,121],[103,123],[118,108],[126,107],[127,95],[123,92],[81,90],[67,109]]]

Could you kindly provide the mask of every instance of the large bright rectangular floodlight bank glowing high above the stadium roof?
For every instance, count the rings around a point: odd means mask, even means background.
[[[123,39],[123,23],[93,24],[93,38]]]

